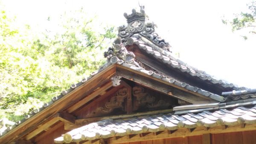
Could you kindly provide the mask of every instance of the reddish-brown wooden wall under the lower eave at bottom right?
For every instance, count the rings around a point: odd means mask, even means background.
[[[256,144],[256,130],[211,134],[210,141],[202,142],[202,135],[137,141],[122,144]]]

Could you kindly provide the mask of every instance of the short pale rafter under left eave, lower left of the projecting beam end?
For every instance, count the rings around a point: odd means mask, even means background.
[[[46,130],[48,127],[52,126],[56,122],[59,121],[58,117],[54,117],[51,120],[49,120],[47,123],[43,124],[41,127],[36,128],[34,131],[30,132],[28,135],[26,135],[26,140],[29,140],[33,138],[35,135],[38,135],[40,132]]]

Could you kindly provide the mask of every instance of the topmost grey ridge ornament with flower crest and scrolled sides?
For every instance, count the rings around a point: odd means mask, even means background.
[[[145,6],[140,6],[140,12],[137,12],[136,9],[132,9],[131,14],[124,13],[124,16],[127,20],[127,26],[119,26],[118,36],[123,38],[122,40],[125,41],[126,38],[139,33],[140,35],[151,40],[157,46],[168,48],[171,47],[169,43],[167,43],[155,32],[154,28],[156,25],[154,22],[148,19],[144,8]]]

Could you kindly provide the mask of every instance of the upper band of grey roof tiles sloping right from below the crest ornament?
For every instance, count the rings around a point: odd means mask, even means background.
[[[225,80],[215,78],[212,75],[207,74],[205,71],[199,70],[195,67],[189,66],[187,63],[183,62],[180,59],[175,58],[172,52],[169,52],[166,49],[163,49],[157,46],[155,43],[152,43],[146,37],[140,34],[135,34],[128,38],[128,44],[137,44],[137,46],[147,52],[150,55],[153,55],[155,58],[160,59],[163,63],[172,66],[175,69],[179,69],[181,72],[186,72],[193,77],[198,77],[201,80],[209,81],[212,84],[220,84],[221,86],[227,88],[233,88],[234,90],[245,90],[246,87],[241,87],[236,84],[229,83]]]

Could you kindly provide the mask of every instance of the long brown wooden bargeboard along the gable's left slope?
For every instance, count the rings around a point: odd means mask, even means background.
[[[72,92],[64,95],[58,101],[55,101],[49,107],[45,108],[43,111],[35,114],[28,120],[19,124],[15,129],[6,133],[0,137],[0,144],[11,143],[17,139],[23,137],[27,133],[31,132],[38,127],[38,125],[44,123],[47,119],[60,112],[61,110],[66,109],[76,103],[81,98],[84,98],[86,95],[89,95],[93,90],[102,84],[105,84],[109,79],[116,74],[116,64],[108,66],[108,68],[102,70],[97,75],[90,78],[86,83],[74,89]],[[15,135],[15,136],[14,136]]]

